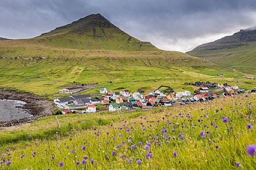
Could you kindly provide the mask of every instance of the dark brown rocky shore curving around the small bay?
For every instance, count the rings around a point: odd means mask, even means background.
[[[21,109],[27,110],[29,114],[33,116],[29,119],[12,120],[11,122],[0,122],[0,127],[11,127],[25,123],[31,123],[38,118],[52,115],[54,109],[54,104],[52,101],[28,92],[0,89],[0,100],[3,99],[24,101],[26,104],[21,106]]]

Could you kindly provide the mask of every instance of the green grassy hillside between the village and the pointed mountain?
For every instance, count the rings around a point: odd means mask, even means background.
[[[108,54],[109,53],[109,54]],[[114,55],[115,56],[114,56]],[[120,53],[121,54],[121,53]],[[119,56],[113,51],[102,51],[100,56],[90,57],[3,57],[1,59],[0,84],[3,88],[15,88],[54,99],[59,86],[77,83],[99,82],[99,87],[86,91],[97,94],[99,88],[143,89],[147,93],[167,85],[175,91],[190,89],[184,82],[216,81],[238,84],[252,89],[255,80],[240,79],[240,72],[222,69],[208,62],[176,52],[132,52]],[[104,55],[104,56],[103,56]],[[131,57],[137,55],[137,57]],[[181,56],[181,58],[180,58]],[[217,74],[224,73],[224,78]],[[118,90],[117,90],[118,89]],[[193,91],[192,91],[193,92]]]

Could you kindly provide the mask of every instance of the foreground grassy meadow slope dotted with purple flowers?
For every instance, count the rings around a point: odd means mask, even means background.
[[[1,152],[1,169],[255,169],[256,95],[145,111]]]

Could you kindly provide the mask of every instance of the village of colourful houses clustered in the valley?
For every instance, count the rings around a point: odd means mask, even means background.
[[[68,113],[95,113],[98,111],[132,111],[137,108],[142,110],[151,110],[157,106],[187,105],[207,100],[212,100],[221,96],[232,96],[245,93],[245,89],[239,89],[238,86],[228,84],[218,84],[216,82],[195,82],[190,83],[197,86],[192,94],[188,90],[176,93],[164,93],[157,89],[145,95],[145,91],[138,89],[134,93],[129,90],[113,91],[108,90],[106,86],[100,88],[100,96],[92,97],[90,94],[71,95],[66,98],[57,98],[54,100],[55,106],[61,110],[57,114]],[[59,90],[59,93],[76,94],[81,88],[66,88]],[[215,90],[213,92],[213,90]],[[256,89],[253,89],[254,91]],[[252,92],[253,92],[252,90]]]

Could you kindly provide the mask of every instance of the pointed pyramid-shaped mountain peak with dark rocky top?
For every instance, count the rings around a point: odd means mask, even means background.
[[[139,41],[120,30],[101,14],[91,14],[31,41],[81,50],[158,50],[150,42]]]

